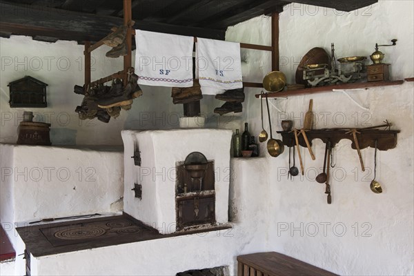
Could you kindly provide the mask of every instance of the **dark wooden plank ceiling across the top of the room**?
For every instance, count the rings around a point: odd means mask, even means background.
[[[351,11],[377,0],[296,0]],[[282,12],[288,0],[132,0],[135,28],[224,39],[228,26],[261,14]],[[122,23],[119,0],[0,0],[0,35],[33,36],[54,41],[99,41]],[[69,23],[68,23],[69,22]]]

